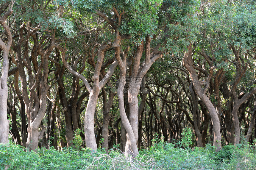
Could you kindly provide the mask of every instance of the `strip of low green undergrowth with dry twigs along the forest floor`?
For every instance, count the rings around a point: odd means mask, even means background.
[[[180,148],[159,142],[140,151],[136,158],[126,157],[118,149],[105,153],[87,148],[63,151],[54,148],[24,152],[15,144],[0,145],[0,169],[256,169],[256,151],[249,145],[227,145],[219,152],[205,148]]]

